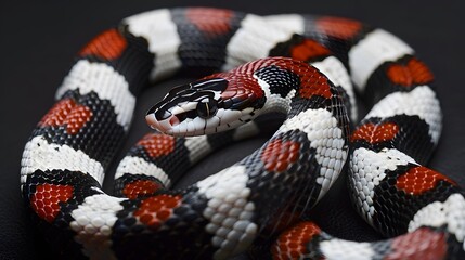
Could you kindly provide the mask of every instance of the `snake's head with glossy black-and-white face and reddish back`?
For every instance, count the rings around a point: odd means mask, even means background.
[[[145,119],[153,129],[177,136],[208,134],[237,127],[244,123],[242,119],[249,120],[250,114],[254,115],[253,107],[257,107],[257,94],[242,89],[246,81],[217,74],[178,86],[147,112]]]

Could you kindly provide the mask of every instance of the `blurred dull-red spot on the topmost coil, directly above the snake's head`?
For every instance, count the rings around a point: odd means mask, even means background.
[[[217,35],[224,35],[230,31],[231,18],[233,16],[234,13],[232,11],[208,8],[192,8],[185,12],[185,17],[197,29]]]

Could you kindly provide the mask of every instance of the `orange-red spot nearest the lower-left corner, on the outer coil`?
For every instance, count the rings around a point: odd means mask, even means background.
[[[30,207],[39,218],[52,223],[60,212],[60,203],[66,203],[73,197],[73,186],[41,184],[30,196]]]

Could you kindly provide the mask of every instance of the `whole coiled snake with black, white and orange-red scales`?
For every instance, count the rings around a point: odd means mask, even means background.
[[[201,79],[154,102],[145,119],[157,131],[129,150],[106,194],[137,96],[179,74]],[[463,190],[423,166],[441,132],[434,86],[411,47],[348,18],[137,14],[78,52],[25,145],[22,195],[46,239],[73,258],[465,259]],[[359,122],[356,95],[372,107]],[[275,121],[250,155],[170,188]],[[340,173],[386,239],[344,240],[309,220]]]

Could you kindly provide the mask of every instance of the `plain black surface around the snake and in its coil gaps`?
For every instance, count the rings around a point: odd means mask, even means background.
[[[195,4],[194,4],[195,3]],[[305,3],[305,4],[303,4]],[[418,5],[421,3],[421,5]],[[465,186],[465,112],[463,58],[465,36],[458,1],[404,3],[389,1],[10,1],[0,3],[0,259],[43,259],[49,248],[33,232],[20,196],[20,160],[28,135],[53,104],[55,89],[73,63],[74,54],[93,36],[121,18],[167,6],[222,6],[257,14],[313,13],[356,18],[385,28],[409,42],[437,76],[444,114],[442,138],[429,166]],[[164,90],[151,90],[139,102],[134,127],[125,150],[148,129],[143,115]],[[199,164],[179,185],[231,165],[257,147],[264,138],[242,142]],[[124,154],[124,153],[121,153]],[[108,176],[112,176],[108,173]],[[105,190],[111,191],[111,178]],[[327,210],[327,211],[325,211]],[[317,207],[315,220],[340,237],[367,240],[377,235],[357,218],[344,183]]]

